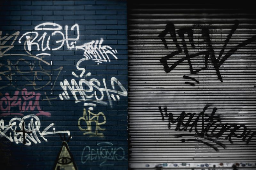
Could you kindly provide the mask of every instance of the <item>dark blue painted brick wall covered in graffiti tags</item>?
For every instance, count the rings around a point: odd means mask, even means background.
[[[126,1],[0,8],[0,169],[128,169]]]

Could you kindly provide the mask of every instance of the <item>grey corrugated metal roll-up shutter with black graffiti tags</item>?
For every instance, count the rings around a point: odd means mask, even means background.
[[[131,169],[256,169],[256,15],[128,2]]]

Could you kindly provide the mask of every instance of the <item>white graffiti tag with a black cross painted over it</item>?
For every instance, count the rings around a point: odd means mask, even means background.
[[[26,124],[28,123],[28,124]],[[16,144],[23,143],[25,145],[31,145],[31,143],[41,143],[41,139],[47,141],[44,137],[46,135],[52,135],[56,133],[67,133],[70,136],[68,130],[47,132],[54,123],[47,126],[42,132],[40,130],[41,122],[36,115],[26,115],[23,118],[12,118],[8,125],[4,125],[4,120],[0,121],[0,138],[5,137],[11,142]]]

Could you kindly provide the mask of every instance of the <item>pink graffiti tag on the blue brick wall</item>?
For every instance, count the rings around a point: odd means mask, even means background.
[[[22,112],[26,111],[38,111],[35,115],[51,116],[51,113],[44,112],[39,106],[40,93],[28,92],[26,88],[22,89],[21,97],[19,98],[20,91],[16,91],[12,97],[9,93],[5,93],[5,97],[0,100],[1,116],[6,115],[24,115]],[[33,102],[34,101],[34,102]],[[20,113],[12,113],[12,107],[19,107]]]

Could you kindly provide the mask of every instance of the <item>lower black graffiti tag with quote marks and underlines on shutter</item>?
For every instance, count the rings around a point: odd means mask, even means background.
[[[225,148],[225,145],[222,144],[219,141],[214,140],[213,138],[218,139],[219,137],[225,137],[225,139],[233,143],[232,137],[236,137],[238,139],[242,139],[243,141],[246,141],[246,144],[249,144],[252,137],[256,136],[256,132],[247,130],[247,127],[245,125],[239,125],[236,123],[228,124],[228,123],[222,123],[220,120],[220,116],[215,115],[217,108],[214,107],[212,109],[212,113],[210,115],[205,114],[205,111],[210,107],[211,105],[206,105],[202,112],[200,112],[198,115],[196,113],[185,113],[182,112],[176,119],[174,119],[173,114],[167,113],[167,107],[158,107],[162,120],[165,120],[165,117],[168,117],[168,128],[171,129],[172,125],[175,127],[175,131],[188,131],[188,132],[196,132],[196,135],[190,134],[190,133],[184,133],[176,135],[176,137],[200,137],[204,138],[206,140],[209,140],[213,143],[216,143],[217,145]],[[186,119],[187,118],[187,119]],[[186,119],[186,123],[183,121]],[[238,130],[243,131],[242,134],[236,133]],[[224,133],[229,132],[224,135]],[[185,139],[181,140],[182,142],[185,142]],[[214,150],[218,151],[218,148],[216,148],[214,145],[205,142],[203,140],[197,140],[197,139],[187,139],[187,141],[196,141],[201,142],[203,144],[206,144],[210,147],[212,147]]]

